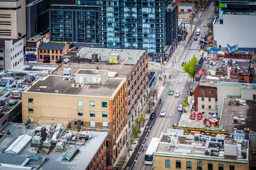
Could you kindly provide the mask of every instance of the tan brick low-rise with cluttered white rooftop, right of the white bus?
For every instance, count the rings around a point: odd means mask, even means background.
[[[249,170],[249,140],[162,133],[154,152],[154,169]]]

